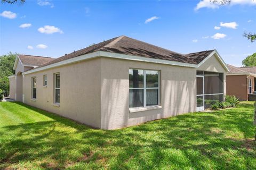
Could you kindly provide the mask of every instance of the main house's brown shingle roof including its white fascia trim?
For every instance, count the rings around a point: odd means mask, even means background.
[[[103,41],[99,44],[95,44],[74,51],[73,53],[59,57],[49,63],[40,65],[35,69],[43,70],[41,69],[41,67],[49,68],[57,66],[58,64],[60,65],[67,64],[68,62],[77,62],[91,57],[97,57],[97,55],[147,62],[153,62],[154,60],[154,62],[156,63],[172,63],[173,65],[196,67],[199,63],[202,64],[204,60],[207,60],[207,57],[210,57],[215,53],[218,55],[223,67],[228,70],[226,64],[223,62],[222,58],[219,56],[216,50],[206,50],[197,53],[180,54],[126,36],[120,36],[109,39],[107,41]]]

